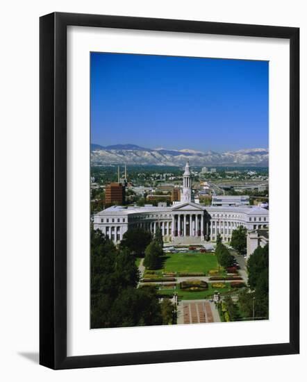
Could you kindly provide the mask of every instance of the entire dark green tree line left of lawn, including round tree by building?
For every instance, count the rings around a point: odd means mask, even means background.
[[[135,257],[145,253],[149,267],[155,266],[153,259],[163,254],[161,239],[159,230],[152,238],[147,231],[131,229],[117,248],[100,230],[91,228],[92,329],[172,323],[170,301],[160,304],[153,287],[137,288],[140,273]]]

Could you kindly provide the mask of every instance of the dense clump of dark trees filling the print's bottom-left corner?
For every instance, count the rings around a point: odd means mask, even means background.
[[[91,227],[91,327],[162,324],[156,291],[140,290],[134,256]]]

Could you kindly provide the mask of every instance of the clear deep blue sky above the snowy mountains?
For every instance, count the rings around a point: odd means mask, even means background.
[[[268,147],[266,61],[91,53],[91,142]]]

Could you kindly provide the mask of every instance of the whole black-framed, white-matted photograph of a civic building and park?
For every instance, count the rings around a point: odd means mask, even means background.
[[[299,353],[299,28],[40,18],[40,364]]]

